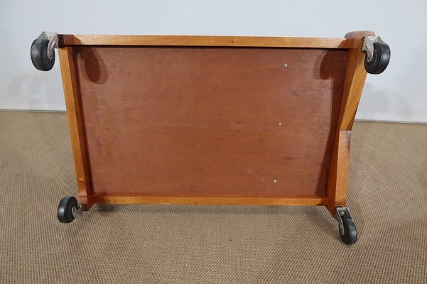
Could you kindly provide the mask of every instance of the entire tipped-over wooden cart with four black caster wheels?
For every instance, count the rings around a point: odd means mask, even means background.
[[[38,70],[58,48],[78,195],[92,204],[323,205],[342,241],[350,135],[367,72],[389,63],[371,31],[345,38],[58,35],[31,45]]]

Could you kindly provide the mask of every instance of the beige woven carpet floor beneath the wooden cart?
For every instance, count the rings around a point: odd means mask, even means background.
[[[0,111],[0,283],[427,283],[427,126],[359,122],[345,246],[323,207],[95,205],[65,114]]]

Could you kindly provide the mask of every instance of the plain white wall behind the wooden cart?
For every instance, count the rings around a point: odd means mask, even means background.
[[[425,0],[1,0],[0,109],[65,109],[58,62],[50,72],[31,65],[41,31],[342,37],[370,29],[389,43],[391,62],[368,75],[357,118],[427,122],[426,14]]]

